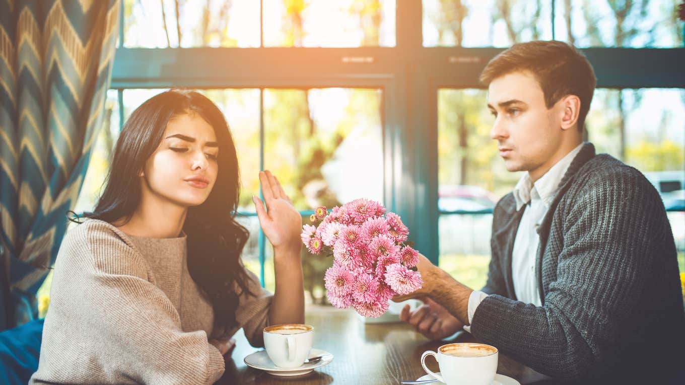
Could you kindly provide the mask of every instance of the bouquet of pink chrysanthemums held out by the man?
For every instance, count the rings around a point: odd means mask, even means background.
[[[311,220],[320,223],[303,225],[302,242],[312,254],[333,256],[325,287],[336,308],[353,306],[362,316],[377,317],[393,296],[421,288],[419,252],[407,242],[409,230],[380,203],[355,199],[331,212],[319,206]]]

